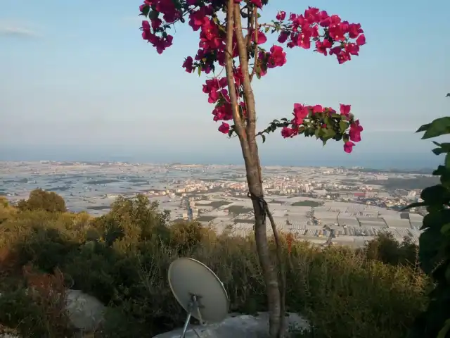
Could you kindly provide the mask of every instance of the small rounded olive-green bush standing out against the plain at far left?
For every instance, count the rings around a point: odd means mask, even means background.
[[[34,189],[30,196],[18,202],[20,211],[44,210],[50,213],[63,213],[65,209],[64,199],[55,192],[46,192],[42,189]]]

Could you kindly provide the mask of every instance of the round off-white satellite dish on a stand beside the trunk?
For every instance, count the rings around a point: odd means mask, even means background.
[[[219,323],[226,318],[229,299],[224,284],[210,268],[193,258],[178,258],[169,266],[169,285],[176,301],[188,313],[181,338],[191,317],[205,323]]]

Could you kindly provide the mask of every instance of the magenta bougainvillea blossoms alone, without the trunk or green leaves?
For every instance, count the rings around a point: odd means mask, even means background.
[[[192,30],[199,32],[198,51],[195,56],[185,58],[182,67],[188,73],[215,73],[217,66],[224,67],[226,55],[226,22],[219,19],[220,11],[226,12],[226,0],[144,0],[140,6],[141,15],[148,18],[142,22],[142,37],[155,46],[159,54],[172,45],[173,37],[167,30],[176,22],[185,22]],[[244,1],[234,0],[235,4]],[[247,14],[252,15],[252,8],[262,8],[266,0],[245,1]],[[286,63],[286,53],[283,46],[272,45],[269,51],[263,48],[267,42],[266,34],[276,33],[278,43],[285,44],[288,49],[295,46],[310,49],[315,45],[315,51],[323,55],[334,55],[338,63],[349,61],[352,56],[359,55],[359,47],[366,43],[361,25],[342,20],[338,15],[328,15],[326,11],[309,7],[302,14],[279,11],[276,20],[270,24],[258,23],[257,32],[254,28],[245,31],[252,53],[253,61],[250,73],[258,78],[266,75],[271,68],[281,67]],[[244,33],[245,33],[244,32]],[[232,58],[237,58],[238,48],[236,34],[233,35]],[[245,116],[243,102],[243,78],[240,68],[233,65],[236,94],[240,100],[240,114]],[[252,76],[251,75],[251,76]],[[230,134],[233,130],[224,121],[233,120],[231,102],[226,77],[213,77],[203,85],[203,92],[208,95],[208,102],[215,104],[212,115],[215,121],[222,121],[219,131]],[[348,108],[342,108],[348,107]],[[348,111],[346,110],[348,109]],[[347,113],[345,113],[347,111]],[[311,114],[333,115],[331,108],[321,106],[295,105],[294,118],[290,124],[283,125],[283,137],[293,137],[302,133],[304,119],[311,118]],[[359,142],[362,127],[359,121],[349,118],[349,106],[341,106],[341,115],[349,123],[349,132],[340,131],[340,137],[345,141],[345,151],[349,152]],[[308,119],[307,119],[308,120]],[[344,121],[344,120],[343,120]],[[324,124],[324,123],[322,123]],[[342,124],[341,124],[342,125]],[[319,125],[314,125],[319,127]],[[320,126],[321,130],[326,129]],[[306,133],[305,133],[306,134]],[[307,135],[308,136],[308,135]],[[317,135],[316,135],[317,136]],[[338,137],[333,137],[337,139]]]

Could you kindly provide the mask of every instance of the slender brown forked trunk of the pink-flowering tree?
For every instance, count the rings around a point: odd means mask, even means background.
[[[247,182],[250,190],[249,196],[252,199],[253,210],[255,212],[255,242],[259,263],[261,264],[264,282],[266,284],[269,306],[269,334],[270,337],[276,338],[281,337],[284,333],[282,325],[284,309],[282,309],[281,305],[281,294],[278,287],[276,269],[271,261],[269,245],[267,243],[266,213],[268,208],[266,207],[266,202],[263,197],[261,165],[259,164],[259,154],[256,142],[255,98],[253,96],[248,70],[247,44],[243,37],[240,21],[240,6],[236,6],[234,0],[228,1],[226,18],[226,77],[228,80],[235,130],[239,137],[245,162],[245,171],[247,173]],[[233,78],[233,32],[236,32],[240,68],[243,73],[244,100],[247,110],[246,119],[241,117],[239,112],[238,97]]]

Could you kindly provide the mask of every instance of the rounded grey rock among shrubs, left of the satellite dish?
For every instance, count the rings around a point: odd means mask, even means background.
[[[103,320],[105,306],[89,294],[69,289],[66,310],[74,327],[83,332],[93,332]]]

